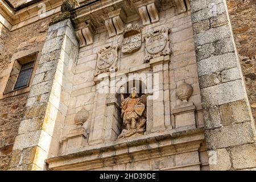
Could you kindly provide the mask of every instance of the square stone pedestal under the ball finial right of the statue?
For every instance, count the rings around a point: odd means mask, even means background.
[[[175,117],[175,127],[178,130],[187,130],[196,128],[195,118],[196,106],[193,102],[183,102],[176,105],[173,110]]]

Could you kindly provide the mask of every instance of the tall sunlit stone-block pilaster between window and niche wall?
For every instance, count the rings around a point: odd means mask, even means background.
[[[15,138],[11,170],[42,170],[48,157],[57,156],[78,52],[71,20],[49,26]]]

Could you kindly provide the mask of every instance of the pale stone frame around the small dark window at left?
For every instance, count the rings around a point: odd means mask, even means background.
[[[0,100],[2,100],[4,98],[8,98],[8,97],[17,96],[19,94],[30,92],[30,88],[31,88],[32,82],[34,80],[36,68],[38,66],[38,63],[39,63],[39,60],[41,57],[41,52],[42,52],[42,46],[36,47],[36,48],[31,48],[31,49],[28,49],[25,51],[19,51],[13,55],[13,57],[11,58],[11,63],[9,65],[9,68],[7,68],[6,74],[3,76],[4,82],[2,84],[3,88],[0,90]],[[34,67],[32,69],[32,73],[31,73],[30,81],[28,82],[28,85],[24,86],[23,88],[15,89],[11,92],[5,93],[6,88],[8,86],[9,78],[11,77],[11,73],[13,72],[13,67],[14,67],[14,64],[16,63],[16,61],[23,57],[30,56],[34,53],[36,53],[36,59],[35,59]]]

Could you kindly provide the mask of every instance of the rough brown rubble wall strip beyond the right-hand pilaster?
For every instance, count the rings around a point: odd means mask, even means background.
[[[233,28],[237,52],[245,78],[246,91],[251,105],[254,120],[256,118],[255,102],[255,43],[256,20],[254,1],[228,1],[229,16]]]

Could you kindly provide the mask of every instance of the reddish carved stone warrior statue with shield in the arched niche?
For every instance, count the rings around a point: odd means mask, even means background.
[[[118,138],[127,138],[138,133],[143,134],[146,129],[146,102],[145,95],[138,97],[136,88],[131,89],[130,97],[123,97],[121,90],[121,118],[125,129]]]

